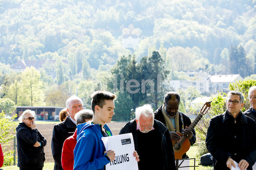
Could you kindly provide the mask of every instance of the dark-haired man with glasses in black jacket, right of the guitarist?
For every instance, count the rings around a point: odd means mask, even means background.
[[[206,146],[216,163],[214,170],[252,170],[256,161],[256,124],[241,113],[244,96],[239,91],[227,94],[227,110],[209,123]],[[235,165],[236,161],[238,165]]]

